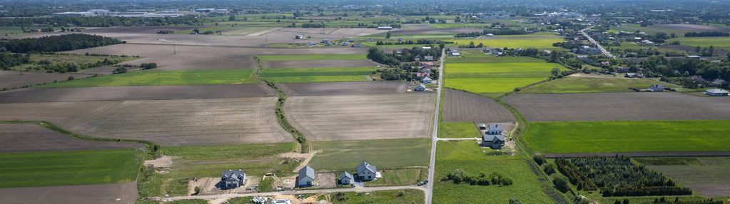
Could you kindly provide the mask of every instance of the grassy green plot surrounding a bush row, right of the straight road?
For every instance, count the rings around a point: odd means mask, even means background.
[[[434,175],[434,203],[507,203],[510,199],[522,203],[554,203],[542,190],[537,176],[527,161],[518,156],[487,155],[474,141],[439,141]],[[486,149],[487,151],[491,151]],[[509,186],[478,186],[439,181],[454,170],[468,175],[499,172],[513,181]]]

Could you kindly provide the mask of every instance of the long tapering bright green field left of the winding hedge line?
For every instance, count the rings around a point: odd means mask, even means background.
[[[142,85],[231,85],[258,83],[253,68],[215,70],[142,70],[96,76],[36,87],[110,87]]]

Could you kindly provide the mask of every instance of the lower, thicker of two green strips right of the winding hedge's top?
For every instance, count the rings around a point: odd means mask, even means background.
[[[372,80],[374,67],[264,68],[261,78],[274,83],[358,82]]]

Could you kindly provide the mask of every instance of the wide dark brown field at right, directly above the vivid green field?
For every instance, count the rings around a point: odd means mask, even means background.
[[[503,100],[529,121],[730,119],[727,98],[684,93],[520,93]]]

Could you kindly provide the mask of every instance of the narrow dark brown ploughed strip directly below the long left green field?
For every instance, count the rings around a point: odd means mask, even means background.
[[[128,101],[276,96],[266,85],[31,88],[0,92],[0,103]]]

